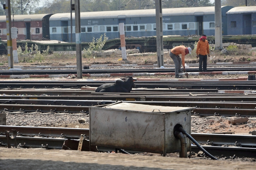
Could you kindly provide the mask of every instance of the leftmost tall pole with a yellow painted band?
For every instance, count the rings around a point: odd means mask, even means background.
[[[6,13],[6,35],[7,35],[7,56],[8,56],[8,69],[13,68],[12,58],[12,36],[11,36],[11,3],[10,0],[5,0]]]

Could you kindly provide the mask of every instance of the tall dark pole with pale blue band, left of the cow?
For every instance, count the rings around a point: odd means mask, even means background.
[[[82,46],[81,46],[81,23],[80,23],[80,0],[75,1],[75,19],[76,19],[76,72],[77,78],[83,78],[82,72]]]

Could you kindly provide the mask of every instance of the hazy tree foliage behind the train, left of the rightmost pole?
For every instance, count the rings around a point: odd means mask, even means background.
[[[230,3],[233,0],[225,0]],[[234,0],[240,2],[240,0]],[[253,1],[253,0],[247,0]],[[0,0],[5,4],[5,0]],[[13,3],[12,3],[13,2]],[[72,4],[74,4],[73,0]],[[43,7],[38,6],[39,0],[13,0],[11,8],[14,15],[18,14],[40,14],[40,13],[67,13],[70,12],[70,0],[52,0],[45,1]],[[120,7],[119,7],[120,3]],[[181,7],[198,7],[214,6],[210,0],[162,0],[163,8],[181,8]],[[81,12],[92,11],[117,11],[117,10],[138,10],[138,9],[155,9],[155,0],[80,0]],[[0,7],[0,15],[5,15],[5,10]]]

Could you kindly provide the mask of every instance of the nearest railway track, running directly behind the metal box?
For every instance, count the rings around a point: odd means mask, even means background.
[[[78,140],[81,134],[85,136],[89,135],[89,129],[0,126],[0,141],[2,146],[7,145],[5,131],[10,131],[10,135],[13,135],[12,129],[18,132],[18,136],[16,137],[17,144],[19,144],[19,147],[23,148],[43,147],[48,149],[61,149],[67,139]],[[234,155],[237,157],[256,156],[256,136],[200,133],[191,133],[191,136],[213,155],[220,156],[225,153],[225,156],[228,157]],[[193,143],[191,144],[192,151],[198,151],[197,147],[194,146]],[[13,140],[11,141],[11,145],[14,145]],[[104,151],[113,151],[113,149],[114,148],[102,148]]]

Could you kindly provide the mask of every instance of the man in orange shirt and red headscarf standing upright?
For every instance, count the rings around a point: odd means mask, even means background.
[[[207,39],[206,35],[202,35],[202,37],[199,38],[199,41],[197,42],[196,58],[199,57],[199,72],[207,72],[207,54],[208,54],[208,57],[210,57],[210,52],[209,52],[209,43],[206,39]],[[202,64],[203,64],[203,70],[202,70]]]

